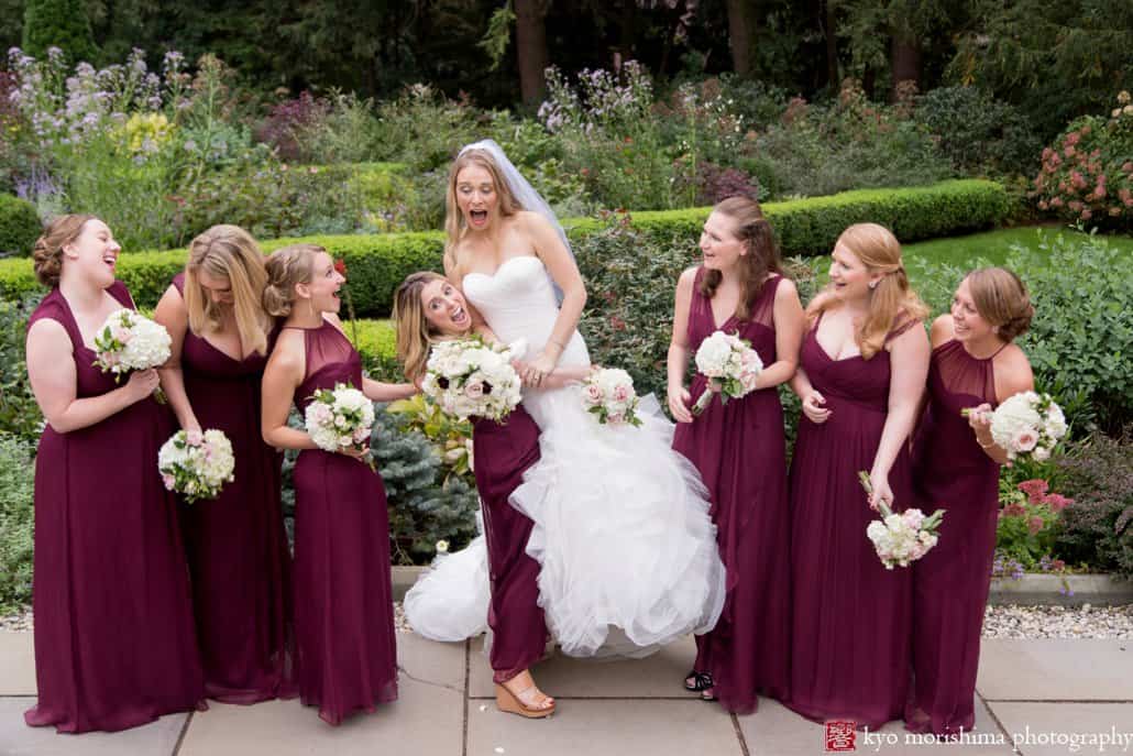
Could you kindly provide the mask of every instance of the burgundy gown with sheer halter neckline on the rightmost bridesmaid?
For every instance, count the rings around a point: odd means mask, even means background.
[[[913,444],[917,504],[926,513],[946,510],[940,541],[912,567],[914,677],[905,727],[921,733],[953,734],[976,722],[999,465],[960,410],[996,405],[993,357],[977,359],[959,341],[932,350],[928,408]]]

